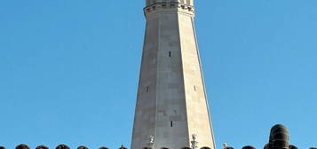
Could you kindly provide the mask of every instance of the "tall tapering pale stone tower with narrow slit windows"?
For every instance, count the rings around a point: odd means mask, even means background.
[[[131,149],[215,149],[193,0],[147,0],[144,12],[147,28]]]

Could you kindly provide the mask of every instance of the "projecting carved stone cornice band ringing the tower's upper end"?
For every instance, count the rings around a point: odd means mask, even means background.
[[[179,2],[150,4],[143,11],[146,17],[158,12],[182,12],[194,17],[194,6]]]

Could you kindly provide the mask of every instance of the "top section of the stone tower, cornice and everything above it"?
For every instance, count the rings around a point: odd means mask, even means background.
[[[194,16],[194,0],[146,0],[146,17],[156,12],[183,12]]]

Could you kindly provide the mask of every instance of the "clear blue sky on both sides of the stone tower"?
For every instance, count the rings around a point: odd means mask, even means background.
[[[196,1],[218,148],[316,146],[317,1]],[[143,0],[0,3],[0,145],[130,146]]]

